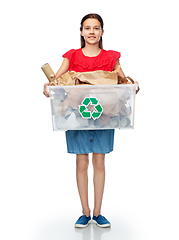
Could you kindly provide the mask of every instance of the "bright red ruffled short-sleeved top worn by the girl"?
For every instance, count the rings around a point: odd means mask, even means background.
[[[63,57],[70,61],[69,71],[90,72],[90,71],[113,71],[114,66],[121,56],[120,52],[101,49],[96,57],[87,57],[83,54],[82,49],[71,49]]]

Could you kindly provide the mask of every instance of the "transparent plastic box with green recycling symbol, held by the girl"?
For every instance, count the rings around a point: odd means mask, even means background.
[[[134,128],[137,84],[50,86],[53,130]]]

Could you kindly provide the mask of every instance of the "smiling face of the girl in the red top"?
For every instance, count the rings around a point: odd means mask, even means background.
[[[81,35],[84,37],[86,43],[97,44],[103,33],[104,30],[102,31],[101,24],[97,19],[89,18],[84,21]]]

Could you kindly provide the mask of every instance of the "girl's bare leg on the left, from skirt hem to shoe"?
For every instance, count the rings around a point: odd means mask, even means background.
[[[83,214],[90,216],[90,208],[88,204],[88,154],[76,155],[76,179],[78,192],[80,195]]]

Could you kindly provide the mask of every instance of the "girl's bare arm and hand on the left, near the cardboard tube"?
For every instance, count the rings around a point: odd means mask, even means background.
[[[68,72],[69,65],[70,65],[70,62],[69,62],[68,58],[64,58],[64,60],[63,60],[63,62],[62,62],[62,65],[61,65],[61,67],[59,68],[59,70],[57,71],[57,73],[55,74],[54,78],[57,79],[57,78],[61,77],[63,74],[65,74],[66,72]],[[49,82],[47,82],[47,83],[44,84],[43,94],[44,94],[46,97],[50,97],[49,92],[48,92],[48,90],[47,90],[47,86],[49,86]]]

